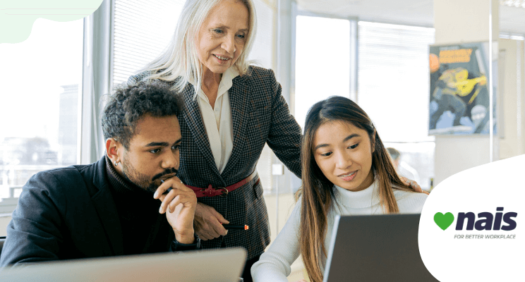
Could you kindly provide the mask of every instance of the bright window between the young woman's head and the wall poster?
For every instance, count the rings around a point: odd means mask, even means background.
[[[402,152],[430,188],[434,142],[428,136],[428,45],[434,29],[358,22],[358,104],[386,146]]]

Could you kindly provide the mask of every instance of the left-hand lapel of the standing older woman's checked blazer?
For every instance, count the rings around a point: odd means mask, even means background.
[[[210,140],[204,127],[203,117],[200,115],[200,109],[197,99],[193,99],[195,90],[193,85],[189,84],[183,90],[183,99],[186,111],[186,123],[193,135],[193,140],[197,144],[199,151],[203,154],[207,164],[212,168],[215,175],[219,176],[220,173],[215,164],[215,158],[213,157],[212,149],[210,147]]]

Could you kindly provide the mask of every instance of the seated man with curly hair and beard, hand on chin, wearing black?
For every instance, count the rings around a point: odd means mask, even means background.
[[[28,180],[0,265],[199,248],[197,198],[176,177],[182,106],[156,83],[116,89],[102,115],[105,156]]]

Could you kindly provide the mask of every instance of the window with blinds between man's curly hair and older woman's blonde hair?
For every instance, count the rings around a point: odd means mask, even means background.
[[[126,82],[167,47],[183,0],[115,0],[113,85]]]

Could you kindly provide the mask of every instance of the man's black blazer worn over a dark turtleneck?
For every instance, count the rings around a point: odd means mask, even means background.
[[[169,250],[173,232],[166,242]],[[42,171],[23,187],[7,227],[0,266],[124,255],[106,159]]]

